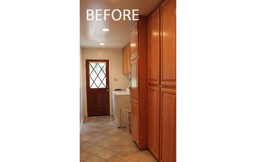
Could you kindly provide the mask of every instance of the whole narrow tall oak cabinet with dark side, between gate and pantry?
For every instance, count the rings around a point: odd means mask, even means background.
[[[137,16],[130,26],[132,136],[147,148],[147,17]]]

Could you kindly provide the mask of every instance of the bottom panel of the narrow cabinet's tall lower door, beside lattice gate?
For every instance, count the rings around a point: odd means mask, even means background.
[[[131,132],[132,136],[136,143],[140,141],[140,134],[139,134],[139,108],[138,105],[134,102],[131,102]]]

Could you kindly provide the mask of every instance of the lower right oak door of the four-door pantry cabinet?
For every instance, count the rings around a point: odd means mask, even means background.
[[[176,90],[161,88],[160,162],[175,161]]]

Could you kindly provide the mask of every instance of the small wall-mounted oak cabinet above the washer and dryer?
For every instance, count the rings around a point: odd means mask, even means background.
[[[131,66],[131,60],[130,60],[130,42],[122,49],[123,53],[123,74],[130,73],[130,66]]]

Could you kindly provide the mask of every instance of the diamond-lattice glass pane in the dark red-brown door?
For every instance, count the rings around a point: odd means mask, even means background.
[[[89,62],[90,88],[106,88],[106,63]]]

